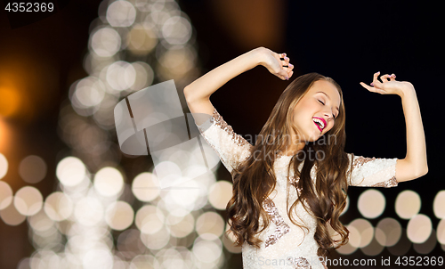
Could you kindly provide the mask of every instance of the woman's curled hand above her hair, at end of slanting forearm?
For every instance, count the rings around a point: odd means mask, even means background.
[[[258,48],[260,53],[260,64],[271,72],[271,74],[283,79],[288,80],[294,74],[294,65],[289,61],[286,53],[275,53],[265,47]],[[281,60],[282,58],[283,60]]]

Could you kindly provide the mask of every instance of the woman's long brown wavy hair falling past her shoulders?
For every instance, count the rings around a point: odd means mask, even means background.
[[[256,238],[255,234],[263,232],[271,222],[270,216],[263,208],[263,201],[268,199],[277,183],[272,169],[275,158],[255,158],[255,156],[260,153],[260,156],[273,157],[276,152],[281,152],[291,143],[289,133],[291,128],[295,134],[299,134],[292,124],[293,110],[297,102],[318,80],[326,80],[336,86],[341,99],[339,114],[335,125],[326,134],[320,136],[317,141],[306,142],[303,150],[292,157],[287,172],[293,165],[295,178],[299,178],[295,188],[300,191],[297,190],[298,199],[290,210],[287,201],[287,215],[293,224],[308,230],[302,224],[296,223],[289,213],[301,203],[303,208],[317,219],[314,239],[320,247],[317,253],[319,257],[328,257],[331,249],[337,249],[348,241],[349,231],[339,221],[339,216],[346,205],[348,190],[346,171],[349,164],[347,153],[344,152],[346,134],[343,93],[332,78],[309,73],[295,78],[279,96],[271,116],[257,136],[255,145],[251,147],[250,156],[231,172],[233,196],[226,207],[228,213],[226,221],[231,227],[227,232],[233,232],[236,246],[241,246],[247,240],[248,244],[260,248],[263,240]],[[332,141],[332,137],[336,138],[335,141]],[[270,154],[271,152],[273,154]],[[303,167],[299,171],[298,167],[302,162]],[[317,167],[315,183],[310,174],[314,165]],[[260,216],[263,218],[263,229],[258,231]],[[328,225],[337,233],[338,240],[331,237]]]

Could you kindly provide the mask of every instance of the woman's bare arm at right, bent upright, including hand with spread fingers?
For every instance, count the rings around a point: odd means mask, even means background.
[[[396,81],[394,74],[381,76],[382,83],[378,80],[379,74],[380,72],[374,74],[374,81],[371,86],[367,86],[363,82],[360,85],[373,93],[398,94],[401,96],[407,126],[407,155],[405,159],[397,160],[395,177],[398,182],[416,179],[428,173],[424,126],[416,90],[409,82]]]

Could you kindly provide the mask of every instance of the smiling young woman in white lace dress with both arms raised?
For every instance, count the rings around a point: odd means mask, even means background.
[[[395,75],[374,74],[369,92],[401,96],[407,126],[405,159],[344,152],[343,93],[329,77],[295,78],[279,97],[255,145],[237,135],[209,100],[232,77],[263,65],[288,79],[286,53],[259,47],[184,88],[200,134],[231,172],[228,223],[242,246],[244,268],[327,268],[331,249],[347,243],[339,221],[348,186],[392,187],[428,171],[425,135],[414,87]],[[206,115],[206,116],[205,116]],[[229,231],[228,231],[229,232]]]

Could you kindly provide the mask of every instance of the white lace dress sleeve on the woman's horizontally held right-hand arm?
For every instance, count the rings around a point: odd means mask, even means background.
[[[349,185],[361,187],[390,188],[398,185],[395,178],[397,158],[367,158],[348,153],[350,166],[348,168]]]

